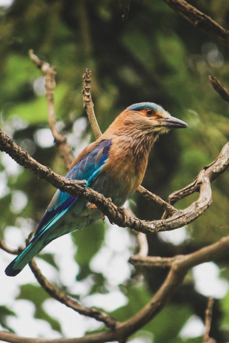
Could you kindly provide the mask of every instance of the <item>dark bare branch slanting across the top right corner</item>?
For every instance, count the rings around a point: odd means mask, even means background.
[[[218,42],[228,46],[229,31],[216,23],[211,17],[198,11],[184,0],[163,0],[174,11],[181,14],[193,26],[200,29]]]

